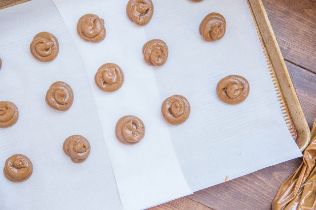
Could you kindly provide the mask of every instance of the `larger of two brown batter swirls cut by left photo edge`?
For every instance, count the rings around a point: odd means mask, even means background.
[[[0,127],[9,127],[19,118],[18,108],[14,103],[0,101]]]

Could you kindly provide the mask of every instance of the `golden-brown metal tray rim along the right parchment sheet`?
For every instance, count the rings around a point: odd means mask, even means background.
[[[288,73],[283,55],[277,43],[268,14],[262,0],[247,0],[253,15],[254,24],[266,55],[271,77],[275,83],[276,94],[280,101],[280,108],[286,124],[293,122],[297,135],[295,140],[303,152],[310,143],[311,132],[298,100],[294,85]],[[292,134],[292,131],[289,129]],[[293,136],[293,134],[292,134]],[[294,136],[293,136],[294,137]]]

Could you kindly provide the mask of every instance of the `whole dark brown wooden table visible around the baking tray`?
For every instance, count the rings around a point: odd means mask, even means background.
[[[0,0],[0,7],[26,0]],[[263,0],[311,126],[316,118],[316,0]],[[200,190],[151,210],[269,210],[301,158]]]

